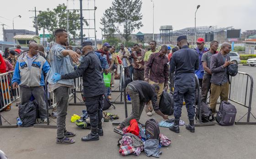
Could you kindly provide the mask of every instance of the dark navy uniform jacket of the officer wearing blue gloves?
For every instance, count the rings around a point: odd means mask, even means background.
[[[82,76],[84,97],[94,97],[105,93],[106,88],[101,75],[101,62],[92,51],[85,55],[79,67],[71,73],[61,75],[61,79],[72,79]]]

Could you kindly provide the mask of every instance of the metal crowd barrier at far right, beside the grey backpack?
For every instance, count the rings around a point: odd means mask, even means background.
[[[235,77],[230,77],[229,100],[244,106],[245,108],[248,108],[247,113],[245,113],[245,115],[241,117],[237,122],[235,122],[235,124],[256,125],[256,122],[250,122],[251,116],[256,119],[255,116],[251,113],[252,92],[253,78],[251,75],[245,72],[238,72]],[[240,122],[240,120],[246,115],[246,122]]]

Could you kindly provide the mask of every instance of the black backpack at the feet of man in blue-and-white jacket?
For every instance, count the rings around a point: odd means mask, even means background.
[[[37,103],[28,101],[24,104],[19,104],[19,117],[22,121],[22,127],[32,127],[37,120]]]

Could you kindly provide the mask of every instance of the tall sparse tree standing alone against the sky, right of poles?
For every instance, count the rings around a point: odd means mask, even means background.
[[[101,30],[104,35],[109,36],[117,32],[127,43],[131,33],[143,26],[141,6],[141,0],[114,0],[101,18]]]

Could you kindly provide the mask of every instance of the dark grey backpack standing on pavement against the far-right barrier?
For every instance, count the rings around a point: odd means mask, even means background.
[[[236,108],[229,102],[222,101],[215,119],[220,125],[228,126],[235,123]]]

